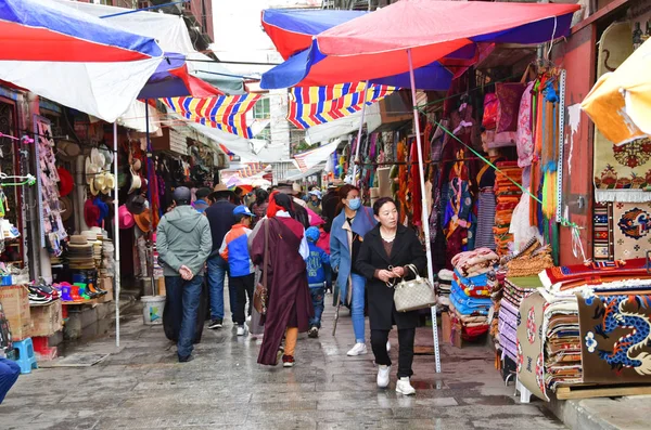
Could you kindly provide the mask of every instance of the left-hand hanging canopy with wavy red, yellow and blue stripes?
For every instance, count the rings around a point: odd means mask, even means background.
[[[183,118],[241,138],[252,139],[246,113],[259,100],[259,94],[217,96],[208,99],[168,97],[162,101]]]

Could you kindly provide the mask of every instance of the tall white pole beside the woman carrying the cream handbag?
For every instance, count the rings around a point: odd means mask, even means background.
[[[407,58],[409,60],[409,80],[411,83],[411,102],[413,105],[413,126],[416,127],[416,145],[418,149],[419,175],[421,182],[421,197],[423,208],[423,234],[425,235],[425,250],[427,255],[427,277],[434,285],[434,266],[432,264],[432,246],[430,244],[430,220],[427,217],[427,199],[425,197],[425,167],[423,164],[423,149],[420,138],[420,119],[418,106],[416,105],[416,79],[413,78],[413,63],[411,61],[411,50],[407,50]],[[438,325],[436,324],[436,304],[432,307],[432,336],[434,337],[434,355],[436,360],[436,373],[441,373],[441,355],[438,351]]]

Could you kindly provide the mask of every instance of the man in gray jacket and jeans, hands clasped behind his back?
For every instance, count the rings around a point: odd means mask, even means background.
[[[210,225],[190,206],[190,190],[174,192],[176,208],[158,223],[156,249],[165,273],[165,291],[171,317],[181,321],[177,353],[179,362],[192,360],[192,338],[199,313],[204,265],[213,250]]]

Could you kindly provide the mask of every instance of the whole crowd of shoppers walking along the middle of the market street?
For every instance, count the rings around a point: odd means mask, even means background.
[[[426,258],[416,233],[398,224],[391,198],[363,206],[353,185],[312,187],[281,183],[268,193],[245,194],[218,184],[174,193],[175,208],[158,226],[157,249],[165,269],[170,309],[179,321],[178,360],[192,360],[192,340],[204,268],[207,269],[210,322],[225,325],[224,287],[228,276],[231,320],[238,336],[261,337],[258,363],[284,367],[296,363],[299,333],[318,338],[324,297],[334,283],[334,303],[350,309],[354,344],[349,356],[367,354],[366,315],[378,365],[378,387],[390,383],[388,334],[398,329],[396,391],[413,394],[410,385],[418,312],[397,312],[394,289],[424,271]],[[248,203],[248,206],[245,205]],[[257,286],[257,287],[256,287]],[[261,313],[254,307],[265,291]],[[254,292],[255,291],[255,292]],[[264,331],[264,333],[263,333]]]

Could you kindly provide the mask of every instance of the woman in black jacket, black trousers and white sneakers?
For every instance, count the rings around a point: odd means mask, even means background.
[[[413,394],[416,390],[409,383],[409,378],[413,375],[411,364],[418,311],[396,311],[392,285],[399,282],[400,277],[412,275],[406,268],[407,264],[413,264],[422,272],[427,261],[416,233],[398,224],[398,210],[393,199],[380,198],[373,205],[373,213],[379,224],[363,236],[355,266],[357,272],[369,279],[369,322],[371,347],[378,364],[378,387],[388,386],[391,359],[386,341],[388,331],[395,324],[398,327],[399,343],[396,392]]]

